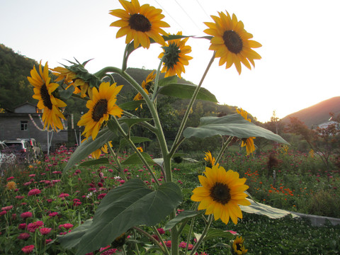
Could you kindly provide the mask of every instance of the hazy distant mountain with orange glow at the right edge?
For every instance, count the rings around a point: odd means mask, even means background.
[[[305,123],[307,127],[312,128],[313,125],[327,122],[330,118],[329,113],[334,113],[335,115],[340,114],[340,96],[329,98],[314,106],[302,109],[296,113],[291,113],[285,116],[285,118],[282,118],[281,121],[283,121],[283,123],[289,123],[290,118],[295,117]]]

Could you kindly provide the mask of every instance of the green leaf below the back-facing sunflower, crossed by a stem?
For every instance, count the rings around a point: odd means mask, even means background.
[[[193,84],[166,84],[159,87],[157,94],[164,96],[174,96],[176,98],[192,98],[196,85]],[[208,91],[208,89],[200,88],[197,99],[215,102],[217,103],[216,97]]]

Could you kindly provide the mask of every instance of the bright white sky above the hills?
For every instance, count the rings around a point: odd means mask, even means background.
[[[339,4],[338,4],[339,3]],[[278,118],[334,96],[340,96],[340,2],[337,0],[140,0],[162,8],[168,33],[205,35],[203,22],[217,11],[235,13],[247,32],[263,46],[262,60],[252,70],[219,67],[216,59],[203,87],[220,103],[238,106],[262,122],[273,111]],[[76,57],[89,72],[121,67],[125,38],[115,39],[118,18],[108,12],[123,8],[118,0],[0,0],[0,43],[15,52],[57,67]],[[185,11],[183,11],[185,10]],[[189,39],[193,52],[182,77],[198,84],[212,51],[209,41]],[[162,49],[152,45],[130,56],[128,67],[157,69]]]

